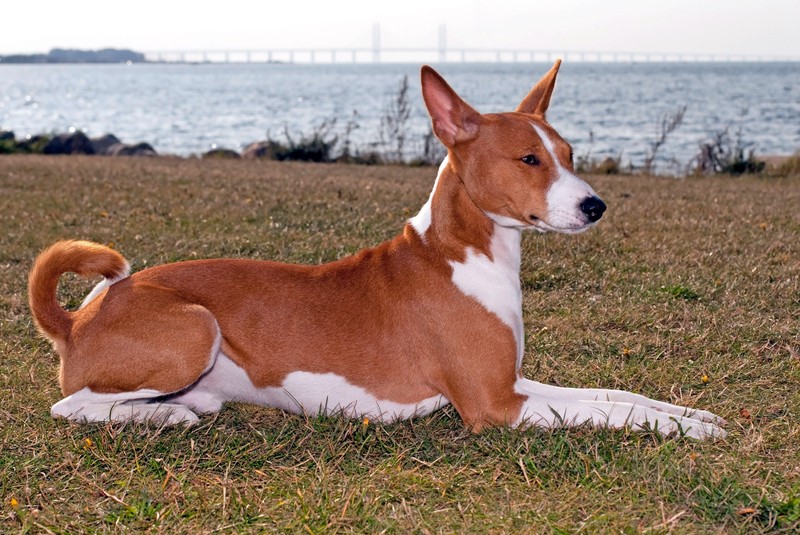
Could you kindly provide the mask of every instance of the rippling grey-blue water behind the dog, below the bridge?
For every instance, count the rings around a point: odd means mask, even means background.
[[[439,71],[482,112],[508,111],[549,65],[445,64]],[[134,64],[0,66],[0,128],[18,137],[83,130],[147,141],[159,153],[241,150],[268,135],[310,133],[337,119],[362,150],[408,75],[411,151],[428,130],[418,65]],[[660,151],[685,165],[701,141],[730,127],[759,154],[800,149],[800,63],[565,63],[548,119],[576,155],[641,163],[656,124],[688,106]],[[380,147],[378,147],[380,148]]]

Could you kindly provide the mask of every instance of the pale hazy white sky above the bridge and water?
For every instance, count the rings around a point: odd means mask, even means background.
[[[735,54],[800,59],[800,0],[6,1],[0,54],[384,47]]]

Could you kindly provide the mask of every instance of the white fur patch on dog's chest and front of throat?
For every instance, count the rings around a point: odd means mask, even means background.
[[[453,284],[511,329],[517,344],[517,369],[522,365],[525,350],[519,283],[520,239],[519,229],[495,224],[490,246],[493,260],[468,247],[464,262],[450,262]]]

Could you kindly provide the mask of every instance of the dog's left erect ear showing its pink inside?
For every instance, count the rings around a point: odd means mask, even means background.
[[[446,147],[469,141],[478,133],[480,113],[461,100],[439,73],[425,65],[420,73],[422,98],[433,122],[433,133]]]

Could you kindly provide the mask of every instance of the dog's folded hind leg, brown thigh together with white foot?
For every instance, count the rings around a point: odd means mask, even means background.
[[[62,389],[69,395],[53,406],[53,416],[94,422],[197,421],[187,404],[170,397],[213,368],[222,343],[216,319],[169,290],[144,286],[122,294],[120,285],[124,282],[81,311],[94,314],[76,327],[62,354]]]

